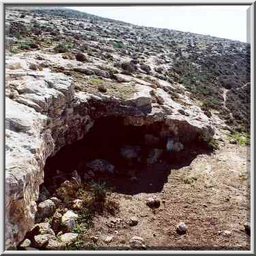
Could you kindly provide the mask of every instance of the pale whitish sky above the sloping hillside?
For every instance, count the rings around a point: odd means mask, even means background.
[[[246,42],[249,6],[69,7],[134,25],[176,29]]]

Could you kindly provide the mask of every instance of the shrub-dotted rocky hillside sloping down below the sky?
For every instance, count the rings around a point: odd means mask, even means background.
[[[249,44],[139,27],[74,10],[24,10],[15,18],[7,16],[7,22],[7,36],[18,37],[16,45],[10,44],[10,52],[29,50],[34,43],[39,50],[67,52],[69,59],[84,53],[95,64],[106,65],[102,68],[110,69],[112,75],[121,68],[129,74],[148,75],[146,79],[182,84],[208,115],[218,112],[227,125],[249,129]],[[122,61],[131,61],[130,70],[121,66]]]

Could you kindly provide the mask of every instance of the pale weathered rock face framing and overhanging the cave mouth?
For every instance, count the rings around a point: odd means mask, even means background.
[[[63,59],[59,55],[53,58],[40,53],[40,56],[44,62],[77,66],[76,60]],[[35,59],[38,62],[36,51],[6,59],[7,248],[18,244],[35,223],[35,202],[39,185],[44,182],[46,159],[63,146],[82,139],[97,118],[121,116],[125,125],[138,126],[161,122],[159,136],[175,136],[181,142],[211,138],[214,133],[202,110],[190,106],[186,109],[187,114],[181,111],[184,106],[164,91],[164,86],[170,87],[167,82],[162,84],[162,89],[154,89],[150,83],[136,82],[133,76],[118,76],[119,80],[127,82],[120,85],[123,86],[121,90],[131,88],[122,97],[109,95],[111,90],[107,93],[75,91],[76,83],[63,73],[52,72],[47,67],[29,69],[28,63]],[[14,72],[10,67],[15,65]],[[106,71],[99,71],[93,64],[90,70],[108,77]],[[156,95],[161,102],[155,101]]]

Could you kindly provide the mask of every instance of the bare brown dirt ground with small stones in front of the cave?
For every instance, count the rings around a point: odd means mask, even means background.
[[[155,165],[138,182],[123,181],[112,194],[120,212],[95,217],[84,240],[92,244],[91,236],[97,236],[92,245],[97,250],[129,249],[133,236],[144,238],[151,250],[250,250],[244,231],[250,214],[249,148],[226,138],[219,146],[187,166],[161,170]],[[151,195],[161,199],[155,210],[146,206]],[[130,217],[138,217],[138,225],[130,227]],[[187,234],[178,235],[176,225],[182,221]],[[105,242],[108,236],[111,242]]]

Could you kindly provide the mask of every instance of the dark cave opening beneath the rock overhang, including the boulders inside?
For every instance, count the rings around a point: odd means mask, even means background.
[[[191,154],[191,147],[186,145],[178,155],[167,153],[167,138],[159,136],[162,126],[160,122],[124,125],[123,118],[116,116],[97,119],[82,140],[64,146],[56,155],[48,157],[44,167],[44,186],[54,191],[58,186],[54,182],[56,177],[59,176],[60,184],[77,170],[82,180],[105,180],[118,193],[134,195],[161,191],[170,170],[189,165],[195,157]],[[127,159],[129,155],[131,158]],[[95,175],[90,178],[88,172],[92,172],[88,163],[95,159],[101,159],[103,165],[109,163],[107,169],[110,172],[93,171]]]

